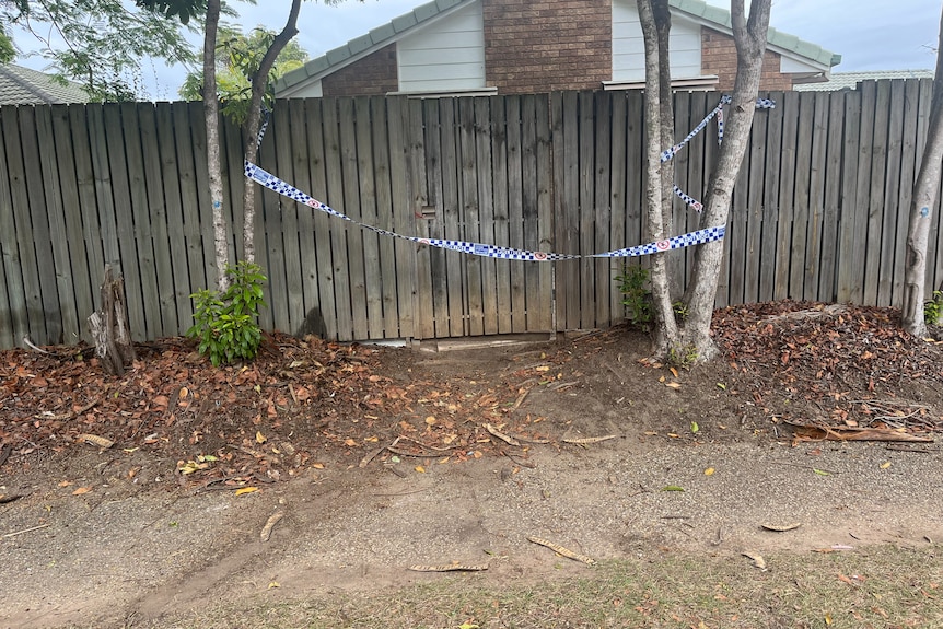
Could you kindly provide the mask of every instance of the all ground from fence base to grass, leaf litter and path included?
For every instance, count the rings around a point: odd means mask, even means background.
[[[598,560],[930,544],[943,343],[897,316],[719,311],[722,357],[694,370],[627,327],[440,351],[277,335],[223,370],[165,339],[121,377],[82,348],[2,352],[0,627],[585,568],[531,537]]]

